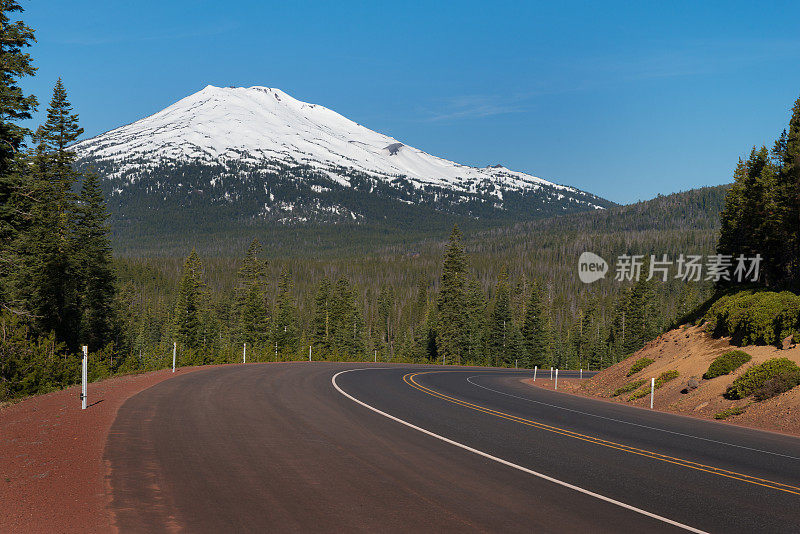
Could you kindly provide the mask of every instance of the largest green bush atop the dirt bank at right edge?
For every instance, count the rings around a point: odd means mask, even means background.
[[[737,345],[775,345],[800,332],[800,295],[740,291],[717,300],[703,317],[715,336]]]

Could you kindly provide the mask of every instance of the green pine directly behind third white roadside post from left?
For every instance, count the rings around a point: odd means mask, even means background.
[[[253,239],[234,287],[233,317],[237,343],[266,343],[269,313],[266,299],[266,261],[259,258],[261,244]]]

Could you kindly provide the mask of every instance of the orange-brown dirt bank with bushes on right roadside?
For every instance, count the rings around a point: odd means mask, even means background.
[[[714,358],[734,349],[748,353],[753,359],[729,375],[711,380],[702,378]],[[655,409],[713,419],[714,415],[727,409],[742,407],[743,414],[732,415],[725,420],[734,424],[800,435],[800,387],[762,402],[753,402],[752,397],[734,401],[722,396],[725,389],[753,365],[781,357],[789,358],[800,365],[800,345],[787,350],[755,345],[736,347],[731,345],[729,338],[714,339],[702,327],[683,327],[659,336],[630,358],[605,369],[591,379],[559,380],[558,389],[649,407],[649,394],[629,400],[630,392],[617,397],[612,393],[617,388],[642,379],[646,380],[643,387],[647,387],[649,393],[651,377],[658,378],[666,371],[677,371],[677,378],[656,390]],[[653,363],[642,371],[627,376],[631,366],[639,358],[650,358]],[[687,383],[692,378],[698,385],[695,389],[687,389]],[[552,387],[549,382],[538,380],[536,385]]]

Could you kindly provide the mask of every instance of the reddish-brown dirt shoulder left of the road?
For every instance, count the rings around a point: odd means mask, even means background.
[[[131,396],[196,368],[80,386],[0,408],[0,532],[113,532],[103,462],[117,410]]]

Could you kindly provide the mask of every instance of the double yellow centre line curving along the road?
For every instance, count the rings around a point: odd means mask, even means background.
[[[464,406],[465,408],[469,408],[471,410],[475,410],[478,412],[483,412],[489,415],[493,415],[495,417],[500,417],[502,419],[508,419],[509,421],[514,421],[516,423],[520,423],[526,426],[538,428],[540,430],[546,430],[547,432],[553,432],[555,434],[560,434],[562,436],[566,436],[568,438],[579,439],[581,441],[586,441],[588,443],[594,443],[595,445],[601,445],[603,447],[609,447],[611,449],[616,449],[623,452],[628,452],[631,454],[636,454],[639,456],[644,456],[647,458],[652,458],[654,460],[659,460],[662,462],[667,462],[674,465],[679,465],[681,467],[688,467],[689,469],[695,469],[697,471],[703,471],[706,473],[711,473],[713,475],[718,475],[721,477],[731,478],[734,480],[739,480],[742,482],[747,482],[748,484],[755,484],[757,486],[763,486],[765,488],[771,488],[778,491],[783,491],[786,493],[793,493],[794,495],[800,495],[800,487],[791,486],[789,484],[782,484],[780,482],[773,482],[771,480],[766,480],[763,478],[758,478],[750,475],[745,475],[742,473],[737,473],[735,471],[728,471],[727,469],[720,469],[718,467],[713,467],[710,465],[705,465],[697,462],[692,462],[690,460],[683,460],[681,458],[675,458],[673,456],[667,456],[666,454],[660,454],[653,451],[648,451],[645,449],[638,449],[636,447],[630,447],[628,445],[623,445],[621,443],[616,443],[613,441],[608,441],[605,439],[597,438],[594,436],[588,436],[586,434],[580,434],[578,432],[573,432],[572,430],[566,430],[564,428],[559,428],[552,425],[546,425],[544,423],[539,423],[538,421],[533,421],[531,419],[525,419],[522,417],[518,417],[516,415],[507,414],[505,412],[499,412],[497,410],[492,410],[490,408],[486,408],[485,406],[480,406],[478,404],[473,404],[471,402],[463,401],[461,399],[457,399],[455,397],[450,397],[443,393],[439,393],[433,389],[430,389],[426,386],[421,385],[416,380],[415,377],[419,375],[435,373],[440,371],[426,371],[421,373],[408,373],[403,377],[403,381],[408,384],[409,386],[413,387],[414,389],[418,389],[428,395],[433,397],[437,397],[447,402],[451,402],[453,404],[458,404],[459,406]]]

